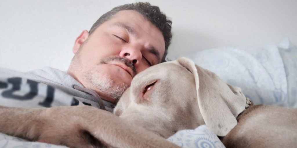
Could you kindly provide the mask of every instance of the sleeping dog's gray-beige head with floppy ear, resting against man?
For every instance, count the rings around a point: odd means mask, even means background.
[[[136,75],[114,113],[164,138],[202,124],[225,136],[237,125],[236,117],[245,107],[240,88],[180,58]]]

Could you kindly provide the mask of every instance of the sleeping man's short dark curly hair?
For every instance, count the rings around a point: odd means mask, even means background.
[[[138,2],[138,3],[132,3],[132,4],[124,4],[111,9],[110,11],[102,15],[94,23],[94,25],[91,27],[89,31],[89,34],[91,35],[99,25],[109,20],[111,17],[113,17],[113,15],[115,15],[117,12],[121,10],[135,10],[139,12],[141,15],[143,15],[143,17],[149,20],[162,32],[162,35],[165,41],[165,52],[161,62],[164,62],[165,57],[167,55],[168,46],[170,45],[170,41],[172,38],[172,34],[170,32],[172,21],[166,19],[166,15],[160,11],[159,7],[151,6],[150,3]]]

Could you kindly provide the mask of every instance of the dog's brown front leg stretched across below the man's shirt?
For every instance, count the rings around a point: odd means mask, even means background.
[[[0,106],[0,132],[30,141],[77,148],[178,148],[177,145],[90,106],[15,108]]]

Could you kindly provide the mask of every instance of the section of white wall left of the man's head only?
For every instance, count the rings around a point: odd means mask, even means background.
[[[133,0],[0,0],[0,67],[67,70],[75,39],[105,12]]]

